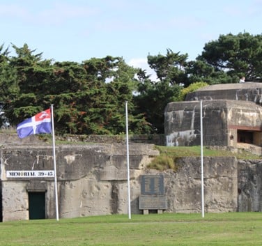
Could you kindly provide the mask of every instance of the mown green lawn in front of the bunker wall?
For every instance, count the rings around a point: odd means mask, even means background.
[[[262,245],[262,213],[107,215],[0,223],[0,245]]]

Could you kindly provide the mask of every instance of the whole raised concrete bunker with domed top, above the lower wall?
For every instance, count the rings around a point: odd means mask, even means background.
[[[202,100],[203,145],[261,146],[262,84],[215,84],[171,102],[164,112],[167,146],[200,145]]]

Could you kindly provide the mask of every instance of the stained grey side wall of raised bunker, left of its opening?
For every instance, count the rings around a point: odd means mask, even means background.
[[[205,101],[202,113],[203,145],[226,146],[226,102]],[[200,145],[200,102],[170,102],[164,111],[164,133],[167,146]]]

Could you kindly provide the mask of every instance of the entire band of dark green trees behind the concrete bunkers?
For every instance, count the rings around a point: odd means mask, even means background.
[[[196,61],[172,52],[148,56],[156,81],[121,57],[92,58],[82,63],[53,63],[36,50],[0,46],[0,103],[15,126],[54,105],[56,133],[121,134],[128,101],[130,133],[164,133],[164,108],[183,100],[196,82],[206,84],[260,81],[262,36],[221,35],[203,47]],[[182,91],[181,91],[182,90]]]

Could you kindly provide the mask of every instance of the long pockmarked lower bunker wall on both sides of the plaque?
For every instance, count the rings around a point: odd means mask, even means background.
[[[56,165],[59,217],[82,217],[128,213],[125,146],[95,144],[59,146]],[[147,169],[158,155],[153,145],[130,145],[131,212],[139,210],[141,175],[163,174]],[[178,160],[178,171],[164,171],[168,212],[201,211],[201,162],[199,158]],[[46,217],[54,218],[53,178],[6,178],[10,170],[52,169],[52,148],[20,146],[1,148],[3,221],[28,220],[28,192],[45,191]],[[237,162],[235,158],[204,158],[206,212],[236,211],[238,208]]]

